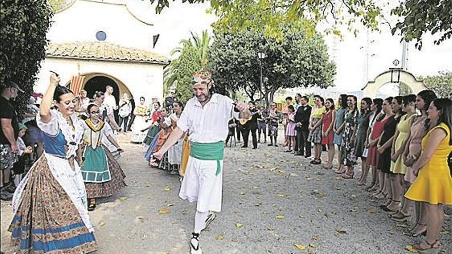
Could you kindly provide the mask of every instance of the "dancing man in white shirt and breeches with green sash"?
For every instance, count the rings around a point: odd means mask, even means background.
[[[213,93],[212,74],[197,71],[193,77],[193,93],[162,148],[154,157],[162,159],[165,152],[178,142],[184,132],[190,130],[190,157],[179,197],[190,202],[197,201],[195,227],[190,241],[191,253],[202,253],[199,233],[215,219],[212,211],[221,211],[222,167],[224,139],[228,135],[228,121],[250,118],[246,104],[227,96]],[[240,112],[239,114],[237,112]]]

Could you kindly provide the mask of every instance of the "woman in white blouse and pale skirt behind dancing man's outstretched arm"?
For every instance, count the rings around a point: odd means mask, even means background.
[[[172,113],[163,123],[164,125],[163,127],[168,127],[169,129],[171,129],[171,131],[177,127],[177,121],[179,120],[180,115],[182,114],[183,104],[181,102],[174,102],[173,110],[174,113]],[[159,163],[160,169],[168,170],[171,174],[179,173],[183,139],[184,136],[181,136],[177,143],[174,144],[170,149],[168,149],[165,155],[163,155],[163,159],[160,160]]]

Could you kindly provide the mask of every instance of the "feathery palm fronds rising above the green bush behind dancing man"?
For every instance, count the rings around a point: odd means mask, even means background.
[[[202,31],[201,37],[198,34],[193,34],[190,32],[192,36],[186,40],[183,39],[180,41],[179,47],[174,48],[171,51],[171,55],[179,55],[179,57],[183,54],[185,50],[195,50],[197,52],[196,65],[200,65],[201,67],[205,67],[208,63],[208,55],[211,37],[209,36],[206,30]],[[178,72],[179,72],[179,57],[175,58],[163,71],[163,92],[166,93],[168,89],[177,85],[178,81]]]

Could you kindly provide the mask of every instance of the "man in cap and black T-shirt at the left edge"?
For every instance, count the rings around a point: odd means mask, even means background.
[[[19,126],[17,114],[10,100],[17,97],[17,92],[24,92],[16,83],[6,82],[6,87],[0,96],[0,198],[11,200],[14,186],[9,182],[11,168],[17,152],[17,136]]]

